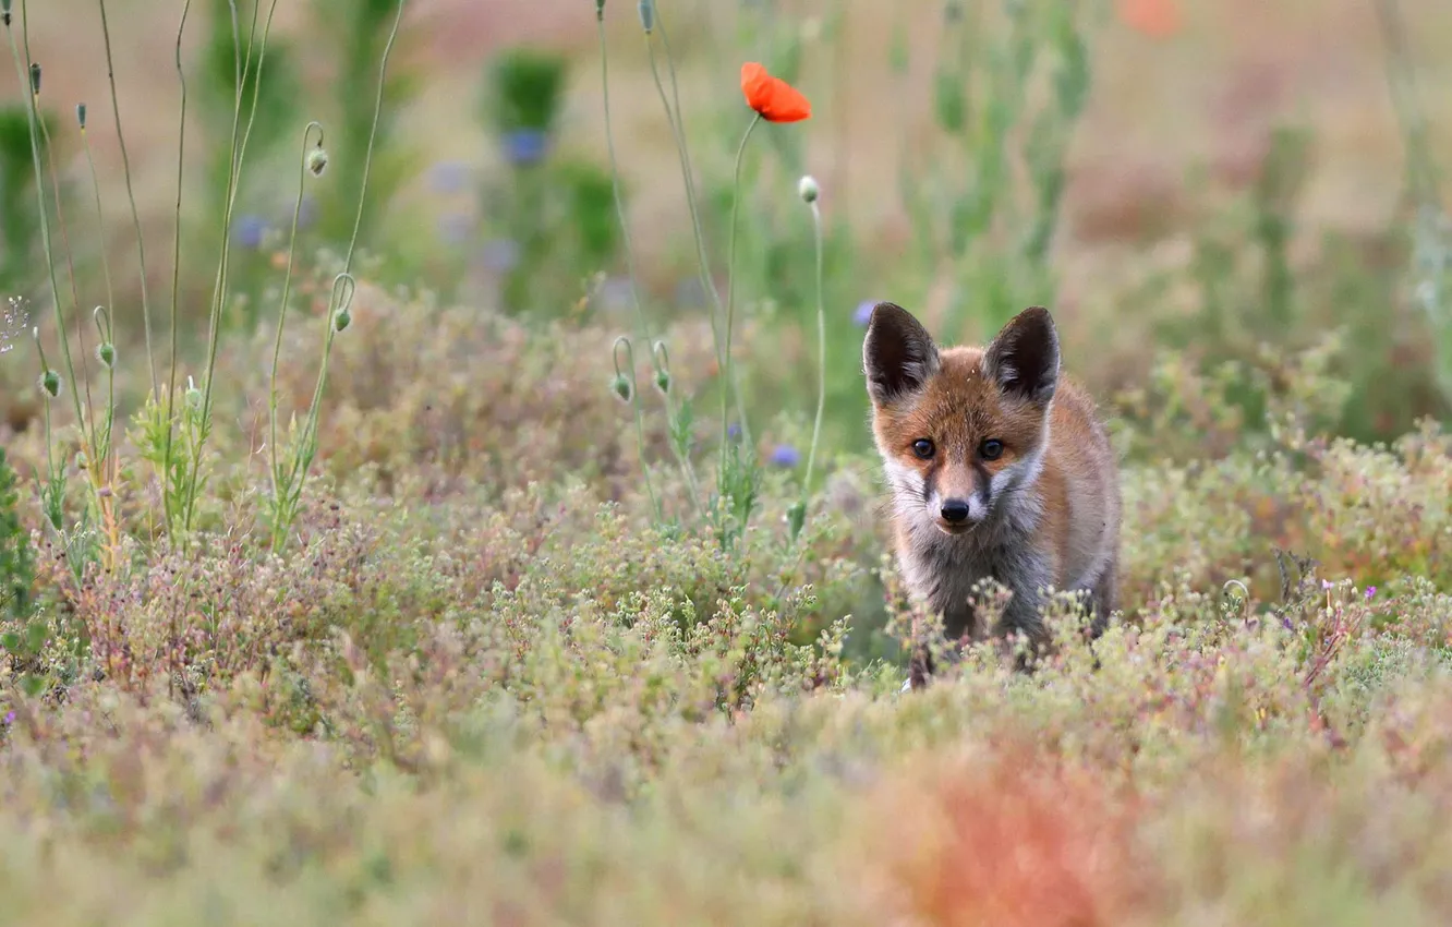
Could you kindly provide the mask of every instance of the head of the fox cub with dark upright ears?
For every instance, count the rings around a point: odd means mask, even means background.
[[[905,526],[971,532],[1038,479],[1059,385],[1048,309],[1024,309],[986,347],[939,350],[910,312],[880,302],[862,366],[873,434]]]

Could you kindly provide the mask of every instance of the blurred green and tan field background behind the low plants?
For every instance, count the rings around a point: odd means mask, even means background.
[[[105,302],[109,270],[116,341],[138,356],[136,235],[97,4],[29,6],[78,304]],[[280,0],[260,10],[274,19],[225,230],[224,321],[238,344],[276,324],[295,209],[296,292],[325,302],[357,218],[396,9]],[[235,10],[245,36],[254,7]],[[173,0],[112,0],[107,25],[155,339],[168,337],[176,279],[182,353],[195,356],[224,234],[234,31],[227,0],[189,4],[174,264],[182,12]],[[1070,369],[1124,416],[1149,414],[1135,391],[1154,376],[1228,371],[1224,395],[1247,413],[1237,421],[1256,421],[1260,400],[1237,382],[1273,384],[1279,357],[1330,337],[1342,339],[1337,375],[1352,386],[1330,430],[1385,439],[1448,410],[1452,232],[1437,171],[1452,141],[1452,4],[659,0],[653,20],[648,36],[639,4],[604,6],[610,128],[656,334],[700,339],[710,311],[668,113],[678,106],[709,279],[725,294],[732,169],[749,116],[741,64],[767,64],[812,100],[810,121],[761,126],[742,170],[736,362],[764,453],[802,443],[816,397],[802,174],[822,187],[828,446],[865,439],[861,305],[876,299],[919,312],[945,341],[1050,305]],[[0,68],[0,291],[26,299],[12,307],[12,330],[26,314],[49,318],[22,99],[15,68]],[[590,0],[408,0],[356,272],[428,301],[378,311],[452,304],[598,330],[607,368],[636,317],[603,103]],[[322,124],[328,166],[299,201],[309,119]],[[38,414],[39,366],[26,343],[10,347],[0,427],[16,433]],[[709,389],[713,362],[682,363],[677,379]],[[123,405],[144,398],[135,373],[119,386]]]

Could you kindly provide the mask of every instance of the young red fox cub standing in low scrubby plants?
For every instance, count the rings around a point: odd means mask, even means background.
[[[1118,604],[1119,469],[1095,401],[1060,369],[1048,309],[1024,309],[984,346],[939,349],[908,309],[878,302],[862,372],[893,554],[950,642],[1043,647],[1050,587],[1080,593],[1089,638],[1102,635]],[[996,628],[979,626],[970,599],[986,578],[1011,593]],[[923,687],[931,657],[909,665],[903,689]]]

